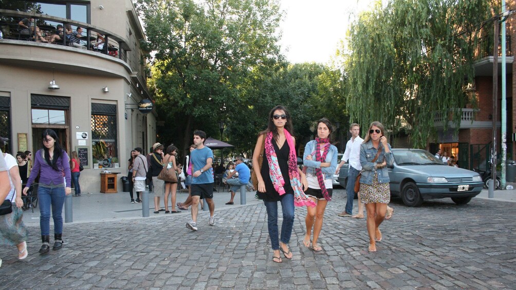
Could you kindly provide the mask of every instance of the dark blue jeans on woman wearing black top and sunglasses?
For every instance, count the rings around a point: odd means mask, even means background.
[[[292,226],[294,225],[294,195],[285,194],[281,198],[281,209],[283,211],[283,223],[281,225],[281,242],[288,244],[292,234]],[[278,240],[278,202],[263,201],[267,208],[267,227],[269,229],[270,244],[272,250],[279,250],[280,243]]]

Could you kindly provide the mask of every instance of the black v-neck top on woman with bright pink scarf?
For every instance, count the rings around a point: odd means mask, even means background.
[[[266,136],[264,135],[264,138]],[[281,175],[285,180],[285,185],[283,185],[286,194],[294,194],[294,190],[290,184],[290,177],[288,177],[288,153],[290,152],[290,147],[288,146],[287,141],[283,143],[281,149],[278,147],[278,144],[274,140],[272,140],[272,145],[274,146],[274,151],[276,151],[276,156],[278,157],[278,164],[280,166]],[[267,152],[265,152],[267,154]],[[269,162],[267,161],[267,156],[263,157],[262,167],[260,168],[260,173],[262,174],[263,181],[265,183],[265,192],[257,192],[258,196],[265,201],[279,201],[285,195],[280,196],[280,194],[274,189],[274,185],[272,185],[272,180],[270,180],[269,173]]]

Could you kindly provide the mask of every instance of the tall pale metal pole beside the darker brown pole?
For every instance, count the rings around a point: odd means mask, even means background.
[[[505,13],[505,0],[502,0],[502,14]],[[506,162],[507,162],[507,75],[506,75],[506,40],[505,40],[505,20],[502,20],[502,180],[500,184],[505,189]],[[494,179],[493,179],[494,181]]]

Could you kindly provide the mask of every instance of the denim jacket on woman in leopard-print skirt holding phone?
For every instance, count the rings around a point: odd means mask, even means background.
[[[387,144],[387,146],[389,146],[389,153],[385,153],[385,150],[382,150],[375,163],[383,163],[383,160],[385,160],[387,166],[393,166],[394,157],[392,155],[391,145]],[[382,148],[381,144],[380,148]],[[373,177],[375,176],[375,172],[378,173],[379,183],[387,183],[390,181],[389,169],[387,166],[380,169],[375,169],[375,163],[372,161],[375,159],[377,153],[378,150],[373,147],[371,140],[360,145],[360,164],[362,164],[362,177],[360,177],[360,183],[369,185],[373,184]]]

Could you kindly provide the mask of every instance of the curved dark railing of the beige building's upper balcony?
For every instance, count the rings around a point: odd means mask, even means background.
[[[94,25],[90,25],[88,23],[84,22],[78,22],[73,21],[71,19],[65,19],[65,18],[59,18],[55,16],[50,16],[46,14],[38,14],[38,13],[30,13],[30,12],[20,12],[20,11],[14,11],[14,10],[6,10],[6,9],[0,9],[0,15],[2,15],[2,18],[0,18],[0,28],[3,30],[4,38],[10,38],[10,39],[20,39],[20,33],[19,29],[20,26],[18,23],[23,18],[34,18],[34,25],[43,26],[46,24],[46,22],[53,22],[53,23],[60,23],[63,27],[66,27],[67,24],[76,26],[76,27],[82,27],[86,30],[85,35],[85,48],[91,49],[92,47],[92,39],[93,33],[98,32],[105,38],[104,48],[101,50],[98,50],[99,53],[103,54],[110,54],[112,56],[118,56],[121,60],[127,62],[127,55],[126,51],[131,50],[130,47],[127,46],[125,43],[125,40],[118,36],[116,33],[111,32],[109,30],[103,29],[101,27],[96,27]],[[49,25],[46,25],[49,26]],[[50,25],[49,27],[52,27]],[[41,29],[42,30],[42,29]],[[52,33],[52,31],[49,31]],[[55,32],[55,31],[54,31]],[[31,33],[34,33],[31,35],[33,39],[36,39],[36,29],[33,29]],[[30,40],[30,39],[26,39]],[[70,43],[70,40],[67,39],[67,37],[62,37],[62,45],[67,45]],[[49,45],[56,45],[56,44],[49,44]],[[115,53],[116,52],[116,53]]]

